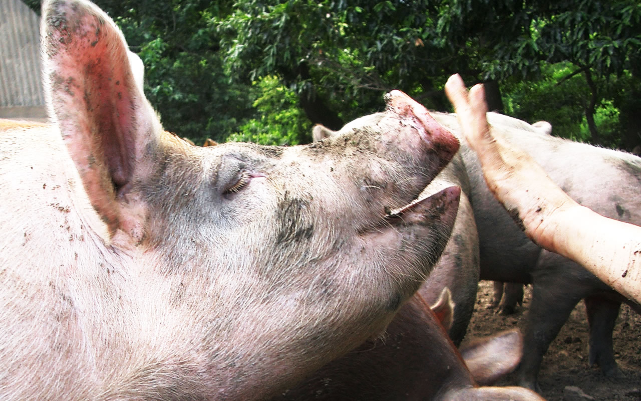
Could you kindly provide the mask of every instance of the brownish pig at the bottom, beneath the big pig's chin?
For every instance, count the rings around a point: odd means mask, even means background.
[[[462,356],[417,293],[382,337],[332,361],[272,401],[543,400],[529,389],[477,384],[492,382],[514,368],[520,340],[517,330],[504,332],[470,343],[462,348]]]

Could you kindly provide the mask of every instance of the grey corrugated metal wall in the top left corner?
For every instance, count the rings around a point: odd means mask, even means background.
[[[21,0],[0,0],[0,107],[44,105],[38,16]]]

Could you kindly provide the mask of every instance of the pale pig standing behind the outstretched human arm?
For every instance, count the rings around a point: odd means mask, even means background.
[[[455,133],[460,132],[456,115],[433,115]],[[578,203],[603,216],[641,224],[641,158],[553,137],[545,126],[530,126],[506,115],[488,113],[487,119],[509,144],[524,149]],[[474,152],[463,144],[460,153],[470,177],[481,279],[532,284],[524,327],[526,352],[517,370],[519,385],[540,390],[537,375],[542,357],[582,299],[590,326],[589,363],[598,364],[609,377],[621,375],[613,356],[612,330],[621,302],[637,312],[641,306],[576,262],[530,241],[489,191]]]

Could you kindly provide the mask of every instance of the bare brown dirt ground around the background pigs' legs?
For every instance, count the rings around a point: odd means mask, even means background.
[[[522,327],[529,307],[529,288],[526,288],[523,307],[511,316],[499,316],[494,309],[487,309],[491,298],[492,282],[479,282],[467,338]],[[613,339],[615,358],[626,375],[623,379],[608,379],[597,366],[588,366],[588,323],[585,306],[579,303],[545,354],[538,375],[542,395],[549,401],[640,401],[641,316],[628,305],[621,308]],[[497,385],[513,385],[514,380],[510,375]]]

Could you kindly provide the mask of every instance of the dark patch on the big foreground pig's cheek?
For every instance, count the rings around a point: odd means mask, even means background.
[[[305,216],[309,205],[308,201],[292,198],[289,192],[285,192],[285,197],[278,202],[276,211],[279,225],[277,244],[299,242],[312,237],[314,225]]]

